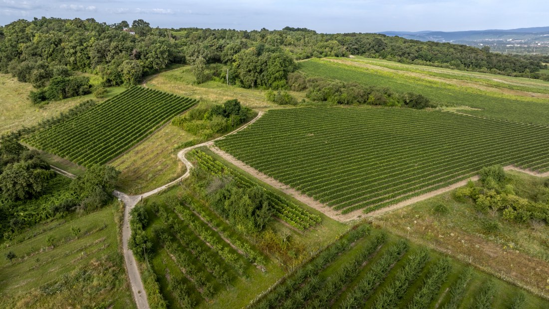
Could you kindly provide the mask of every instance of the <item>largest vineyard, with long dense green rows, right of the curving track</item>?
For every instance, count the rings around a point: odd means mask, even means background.
[[[549,170],[549,127],[441,111],[272,110],[216,144],[343,213],[396,204],[484,166]]]

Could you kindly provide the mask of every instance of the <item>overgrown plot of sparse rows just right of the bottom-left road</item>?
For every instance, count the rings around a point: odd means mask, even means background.
[[[154,239],[150,266],[171,308],[243,307],[282,276],[276,263],[188,192],[144,205],[145,231]]]

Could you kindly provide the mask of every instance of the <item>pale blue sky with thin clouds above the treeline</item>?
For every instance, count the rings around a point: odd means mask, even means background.
[[[548,0],[0,0],[0,25],[35,17],[143,19],[151,26],[323,33],[461,31],[549,26]]]

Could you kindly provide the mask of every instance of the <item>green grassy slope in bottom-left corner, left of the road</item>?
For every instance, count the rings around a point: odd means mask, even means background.
[[[2,308],[135,308],[119,246],[119,203],[39,224],[0,246]],[[79,228],[76,235],[71,228]],[[48,242],[48,238],[51,240]],[[16,254],[12,262],[8,251]]]

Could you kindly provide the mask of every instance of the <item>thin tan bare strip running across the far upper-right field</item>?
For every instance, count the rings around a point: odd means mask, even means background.
[[[436,77],[436,76],[431,76],[431,75],[417,73],[417,72],[390,69],[390,68],[385,68],[384,66],[378,66],[378,65],[369,64],[369,63],[358,63],[356,61],[349,61],[345,59],[325,59],[325,60],[332,61],[335,63],[358,66],[361,68],[367,68],[372,70],[386,71],[386,72],[392,72],[396,74],[419,77],[425,80],[443,82],[443,83],[456,85],[460,87],[470,87],[470,88],[480,89],[488,92],[497,92],[502,94],[517,95],[519,97],[529,97],[529,98],[545,98],[545,99],[549,98],[549,94],[546,94],[546,93],[536,93],[536,92],[527,92],[527,91],[520,91],[520,90],[514,90],[514,89],[508,89],[508,88],[490,87],[490,86],[481,85],[480,83],[475,83],[471,81],[450,80],[449,78]]]

